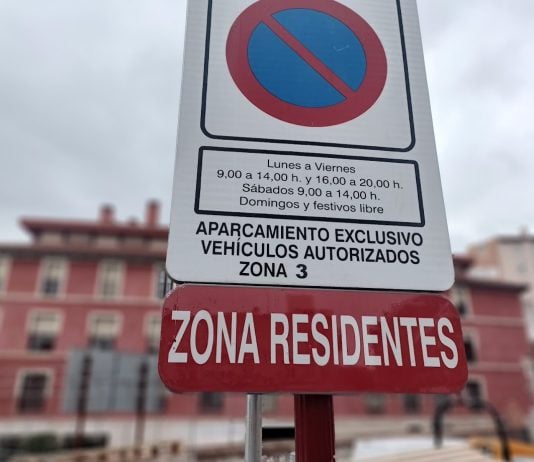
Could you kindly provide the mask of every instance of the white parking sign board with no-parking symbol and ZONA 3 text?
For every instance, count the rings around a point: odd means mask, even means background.
[[[167,270],[446,290],[415,0],[191,0]]]

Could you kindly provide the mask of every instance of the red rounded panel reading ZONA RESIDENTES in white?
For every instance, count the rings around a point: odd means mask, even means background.
[[[165,300],[159,371],[175,392],[452,393],[467,380],[445,298],[193,285]]]

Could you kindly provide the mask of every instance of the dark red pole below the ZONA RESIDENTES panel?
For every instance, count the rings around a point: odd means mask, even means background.
[[[295,395],[297,462],[334,462],[336,438],[332,395]]]

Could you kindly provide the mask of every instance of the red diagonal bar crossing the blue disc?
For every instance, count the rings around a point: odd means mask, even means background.
[[[318,59],[272,16],[266,16],[263,19],[263,22],[345,98],[350,98],[354,94],[354,90],[352,88],[350,88],[342,79],[340,79],[335,72],[332,72],[329,67],[327,67],[320,59]]]

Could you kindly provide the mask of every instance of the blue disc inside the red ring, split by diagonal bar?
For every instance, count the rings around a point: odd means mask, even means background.
[[[360,40],[347,25],[329,14],[305,8],[282,10],[272,18],[350,89],[360,88],[367,59]],[[333,83],[263,22],[250,37],[248,61],[258,82],[289,104],[323,108],[346,100]]]

